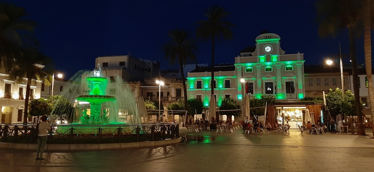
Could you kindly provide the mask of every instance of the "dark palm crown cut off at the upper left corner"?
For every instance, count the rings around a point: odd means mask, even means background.
[[[9,71],[14,65],[14,59],[20,57],[20,48],[28,43],[37,44],[29,34],[33,32],[36,23],[20,19],[27,15],[22,7],[0,3],[0,66]]]

